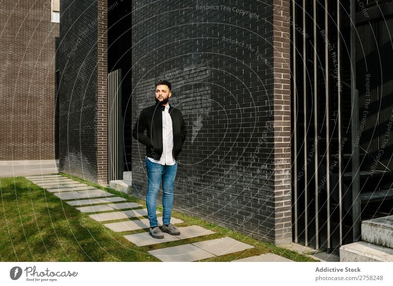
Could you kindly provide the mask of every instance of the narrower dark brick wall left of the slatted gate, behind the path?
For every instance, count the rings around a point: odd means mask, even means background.
[[[106,9],[101,0],[61,0],[59,48],[60,171],[105,184]]]

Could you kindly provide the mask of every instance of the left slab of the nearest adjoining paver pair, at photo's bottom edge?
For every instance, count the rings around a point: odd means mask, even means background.
[[[151,250],[148,253],[166,262],[190,262],[215,256],[192,244]]]

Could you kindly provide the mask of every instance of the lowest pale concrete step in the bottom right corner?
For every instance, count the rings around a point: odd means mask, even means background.
[[[393,262],[393,249],[364,241],[340,247],[340,262]]]

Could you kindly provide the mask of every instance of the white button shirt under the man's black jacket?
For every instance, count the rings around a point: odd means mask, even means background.
[[[173,129],[172,129],[172,118],[169,114],[169,104],[163,110],[163,153],[160,160],[147,157],[151,162],[158,163],[161,165],[175,165],[176,161],[172,155],[173,149]]]

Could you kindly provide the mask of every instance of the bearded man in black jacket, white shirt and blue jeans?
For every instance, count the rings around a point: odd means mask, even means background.
[[[186,125],[181,112],[169,105],[171,85],[168,81],[156,84],[156,104],[143,109],[132,132],[133,137],[146,146],[147,193],[146,206],[150,222],[149,233],[154,238],[164,238],[164,232],[179,235],[180,231],[170,224],[173,203],[177,156],[186,139]],[[146,130],[147,135],[143,132]],[[163,226],[158,227],[157,194],[163,186]]]

